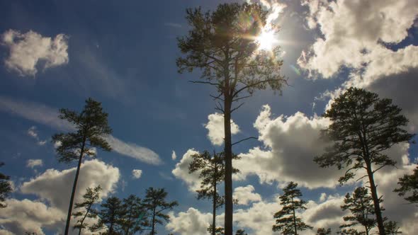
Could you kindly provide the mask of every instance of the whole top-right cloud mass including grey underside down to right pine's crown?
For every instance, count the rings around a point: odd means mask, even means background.
[[[417,17],[416,1],[304,1],[309,8],[307,23],[320,30],[298,64],[311,76],[330,78],[343,67],[348,80],[335,91],[327,92],[331,101],[350,86],[366,88],[405,108],[414,132],[418,125],[418,105],[411,102],[417,86],[418,47],[406,45],[391,50],[409,37],[407,30]],[[408,92],[409,91],[409,92]]]

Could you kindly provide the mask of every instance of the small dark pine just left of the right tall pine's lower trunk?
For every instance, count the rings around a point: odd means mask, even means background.
[[[375,227],[376,219],[374,218],[375,209],[373,199],[368,195],[367,188],[358,187],[354,190],[353,195],[346,194],[344,198],[344,205],[341,205],[342,210],[350,210],[352,215],[343,217],[345,222],[340,228],[352,227],[361,224],[364,227],[366,235]],[[371,216],[373,218],[371,218]]]

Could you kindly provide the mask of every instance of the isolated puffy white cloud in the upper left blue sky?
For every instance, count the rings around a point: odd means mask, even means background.
[[[40,61],[45,62],[42,69],[67,64],[67,38],[62,33],[55,38],[49,38],[32,30],[27,33],[7,30],[1,37],[1,44],[10,50],[4,63],[21,76],[35,76]]]

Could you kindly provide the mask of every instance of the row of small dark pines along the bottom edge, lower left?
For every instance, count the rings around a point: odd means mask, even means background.
[[[123,200],[118,197],[108,197],[100,207],[95,207],[100,199],[101,187],[87,188],[83,201],[74,206],[77,210],[72,214],[77,219],[73,228],[89,230],[97,234],[131,235],[149,231],[157,234],[156,225],[169,221],[166,210],[172,210],[178,202],[166,202],[167,192],[164,188],[147,188],[142,200],[136,195],[129,195]],[[86,218],[97,221],[90,224]]]

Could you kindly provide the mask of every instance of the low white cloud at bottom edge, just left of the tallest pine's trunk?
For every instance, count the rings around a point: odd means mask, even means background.
[[[169,212],[170,221],[166,229],[180,235],[206,235],[209,224],[212,223],[211,213],[202,213],[190,207],[186,212]],[[220,219],[217,219],[220,220]]]

